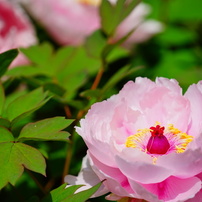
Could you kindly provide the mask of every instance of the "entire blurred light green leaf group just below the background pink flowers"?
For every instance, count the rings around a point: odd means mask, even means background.
[[[6,75],[13,78],[26,77],[33,86],[42,85],[65,101],[70,100],[76,90],[101,66],[101,61],[89,57],[83,47],[62,47],[53,52],[51,45],[45,43],[22,51],[33,65],[11,69]],[[41,80],[36,76],[47,79]],[[30,77],[35,78],[31,80]]]

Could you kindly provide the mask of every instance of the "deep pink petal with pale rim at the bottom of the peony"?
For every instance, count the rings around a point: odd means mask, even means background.
[[[197,177],[180,179],[171,176],[163,182],[143,186],[151,193],[157,195],[159,200],[176,202],[185,201],[200,191],[201,180]]]

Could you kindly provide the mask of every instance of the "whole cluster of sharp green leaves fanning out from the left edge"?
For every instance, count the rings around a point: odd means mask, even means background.
[[[44,119],[28,123],[18,138],[14,137],[14,126],[29,114],[32,114],[49,98],[42,88],[27,94],[5,99],[3,86],[0,86],[1,116],[0,118],[0,189],[8,183],[15,185],[24,172],[24,168],[45,175],[46,162],[41,152],[32,146],[22,143],[25,140],[62,140],[67,141],[69,133],[61,131],[73,120],[63,117]]]

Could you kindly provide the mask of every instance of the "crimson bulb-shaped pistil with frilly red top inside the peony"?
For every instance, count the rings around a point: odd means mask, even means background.
[[[150,154],[165,154],[170,148],[167,138],[163,135],[165,127],[157,125],[150,129],[151,137],[147,143],[147,151]]]

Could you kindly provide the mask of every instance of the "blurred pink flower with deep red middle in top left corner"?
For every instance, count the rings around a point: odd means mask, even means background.
[[[0,53],[13,48],[28,47],[36,41],[33,27],[25,13],[17,5],[0,0]],[[19,54],[11,66],[27,62],[25,56]]]

